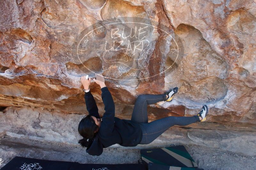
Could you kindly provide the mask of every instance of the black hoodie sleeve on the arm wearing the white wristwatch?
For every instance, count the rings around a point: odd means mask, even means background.
[[[84,99],[85,99],[86,109],[88,110],[89,115],[94,116],[96,118],[100,118],[99,112],[98,112],[98,107],[96,105],[96,102],[95,102],[92,94],[91,94],[91,91],[85,92]]]

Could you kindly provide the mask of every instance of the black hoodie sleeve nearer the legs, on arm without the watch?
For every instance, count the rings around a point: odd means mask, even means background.
[[[101,91],[105,113],[102,117],[100,133],[101,136],[108,136],[114,130],[115,104],[107,87],[101,88]]]

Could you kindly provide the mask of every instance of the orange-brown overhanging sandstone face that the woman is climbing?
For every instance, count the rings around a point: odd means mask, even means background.
[[[140,94],[179,87],[172,103],[149,106],[149,121],[207,104],[207,123],[189,127],[256,131],[255,1],[4,0],[0,9],[1,110],[87,114],[80,77],[102,73],[117,117],[130,119]],[[102,116],[100,88],[90,89]]]

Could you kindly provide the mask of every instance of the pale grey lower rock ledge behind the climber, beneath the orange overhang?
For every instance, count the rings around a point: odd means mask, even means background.
[[[79,121],[84,115],[74,113],[58,113],[27,107],[8,107],[0,112],[0,137],[2,135],[15,138],[29,138],[50,143],[64,143],[77,147],[81,139],[77,132]],[[203,145],[222,148],[245,155],[256,155],[256,132],[245,131],[243,128],[230,129],[197,129],[173,126],[148,145],[123,147],[118,144],[111,147],[126,149],[144,149],[166,147],[173,144]],[[0,143],[2,144],[2,138]]]

